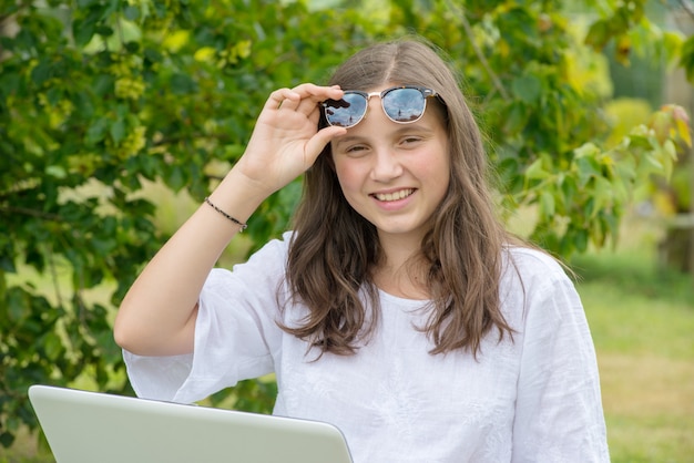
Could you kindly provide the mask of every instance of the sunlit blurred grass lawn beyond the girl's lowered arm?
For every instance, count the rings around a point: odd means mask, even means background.
[[[598,352],[614,463],[694,462],[694,284],[655,264],[653,238],[572,261]],[[0,463],[49,463],[22,434]]]

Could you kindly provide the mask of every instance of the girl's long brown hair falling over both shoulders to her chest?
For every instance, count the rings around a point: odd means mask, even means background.
[[[451,171],[449,191],[417,256],[428,267],[431,295],[420,329],[435,344],[431,353],[463,349],[477,356],[494,327],[499,339],[512,336],[499,298],[502,247],[511,237],[494,214],[482,136],[456,74],[428,44],[405,40],[357,52],[329,84],[349,90],[417,84],[438,92]],[[354,353],[377,327],[380,308],[370,270],[382,250],[375,226],[343,196],[329,145],[306,173],[294,229],[287,277],[293,300],[306,305],[309,315],[300,326],[283,328],[323,352]]]

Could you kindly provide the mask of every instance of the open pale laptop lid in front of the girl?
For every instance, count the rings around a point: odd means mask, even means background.
[[[351,463],[334,425],[32,385],[57,463]]]

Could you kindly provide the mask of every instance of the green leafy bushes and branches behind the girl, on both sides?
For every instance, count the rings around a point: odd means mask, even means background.
[[[600,11],[585,42],[559,1],[370,3],[0,2],[0,444],[35,425],[31,383],[89,374],[126,391],[110,317],[166,239],[143,182],[202,200],[215,166],[243,153],[267,94],[325,82],[355,48],[416,32],[446,50],[488,133],[502,206],[538,205],[531,237],[564,256],[614,237],[633,186],[666,173],[673,140],[688,140],[682,116],[664,111],[604,143],[603,85],[583,71],[593,48],[650,31],[641,1]],[[255,247],[287,227],[299,194],[293,184],[261,207],[247,230]],[[65,265],[70,294],[10,278],[31,268],[55,280]],[[85,297],[105,282],[108,303]],[[236,404],[267,410],[272,387],[247,384]]]

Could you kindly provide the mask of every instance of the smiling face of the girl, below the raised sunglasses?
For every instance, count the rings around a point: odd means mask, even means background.
[[[376,226],[381,243],[418,244],[450,181],[448,136],[433,105],[419,121],[398,124],[371,97],[365,119],[334,140],[331,151],[345,198]]]

